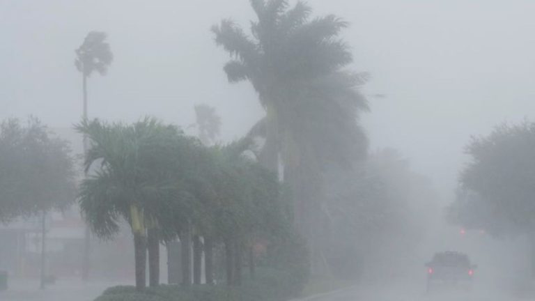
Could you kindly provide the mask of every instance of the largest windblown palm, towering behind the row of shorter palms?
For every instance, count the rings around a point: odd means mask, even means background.
[[[251,6],[258,17],[251,36],[232,20],[212,32],[231,55],[224,66],[228,81],[247,80],[258,93],[266,112],[254,128],[266,137],[261,162],[276,171],[281,157],[295,196],[295,222],[315,245],[317,221],[328,215],[323,173],[333,164],[355,167],[366,155],[357,121],[367,102],[357,88],[368,75],[344,70],[352,54],[339,37],[348,26],[339,17],[312,19],[302,1],[290,6],[287,0],[251,0]]]

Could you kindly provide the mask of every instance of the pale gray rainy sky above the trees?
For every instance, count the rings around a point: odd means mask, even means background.
[[[369,71],[364,124],[372,149],[391,146],[433,178],[447,199],[470,134],[535,112],[535,1],[311,0],[335,13],[355,70]],[[88,31],[106,31],[115,55],[109,75],[89,82],[90,116],[134,121],[153,115],[187,125],[193,105],[223,118],[223,137],[261,116],[248,84],[230,85],[227,56],[210,26],[223,17],[248,24],[247,0],[0,0],[0,118],[33,114],[52,127],[81,116],[74,49]]]

